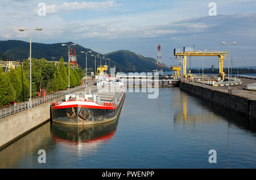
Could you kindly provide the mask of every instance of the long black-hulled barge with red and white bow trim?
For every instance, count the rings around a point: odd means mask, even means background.
[[[100,93],[98,89],[109,89]],[[65,100],[53,103],[51,118],[53,122],[65,125],[92,125],[113,121],[117,118],[125,98],[125,84],[122,80],[105,79],[98,83],[97,89],[87,93],[73,93]]]

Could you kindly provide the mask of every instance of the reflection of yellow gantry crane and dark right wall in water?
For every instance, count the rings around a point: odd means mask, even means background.
[[[202,121],[214,123],[217,122],[218,119],[224,118],[228,121],[228,127],[231,127],[234,124],[244,130],[256,131],[255,127],[250,127],[245,114],[234,112],[233,110],[223,108],[217,104],[212,104],[203,99],[193,101],[192,104],[192,95],[188,95],[185,92],[181,94],[179,94],[179,92],[174,93],[177,93],[175,98],[179,99],[179,101],[174,101],[176,110],[174,114],[174,123],[189,123],[196,125],[196,123],[201,123]],[[211,113],[205,113],[205,111]]]

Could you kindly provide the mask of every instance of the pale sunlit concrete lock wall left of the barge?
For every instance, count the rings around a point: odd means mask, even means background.
[[[0,148],[48,121],[51,118],[52,103],[63,97],[0,119]]]

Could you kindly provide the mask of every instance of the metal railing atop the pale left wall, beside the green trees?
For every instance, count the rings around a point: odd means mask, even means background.
[[[45,102],[52,101],[61,96],[68,95],[69,93],[73,93],[75,91],[80,91],[81,89],[84,89],[84,87],[81,87],[81,86],[79,88],[75,87],[73,89],[70,89],[69,92],[68,92],[68,90],[65,90],[65,91],[53,93],[51,95],[47,95],[45,97],[36,98],[36,99],[32,100],[32,108],[35,106],[38,106],[40,104],[43,104]],[[0,110],[0,119],[6,117],[8,115],[21,112],[26,109],[30,109],[30,102],[28,102],[28,101],[16,104],[9,108],[1,109]]]

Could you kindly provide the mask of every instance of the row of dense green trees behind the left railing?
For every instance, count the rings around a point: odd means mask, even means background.
[[[70,87],[81,84],[84,71],[81,67],[69,67]],[[63,57],[59,66],[46,59],[32,58],[31,63],[32,97],[46,92],[63,90],[68,87],[68,66],[65,66]],[[9,72],[3,72],[0,68],[0,106],[10,104],[13,101],[27,101],[30,97],[30,61],[27,59],[23,66],[12,68]]]

